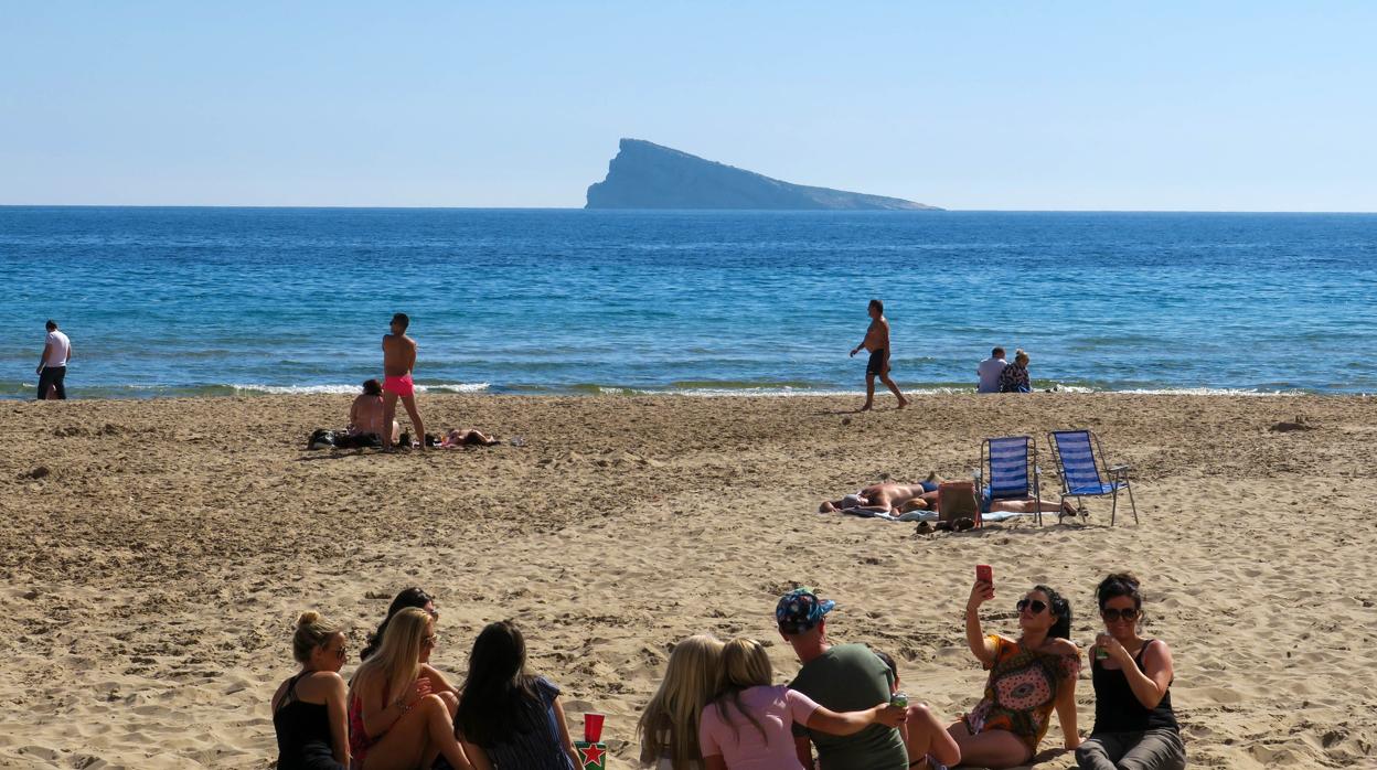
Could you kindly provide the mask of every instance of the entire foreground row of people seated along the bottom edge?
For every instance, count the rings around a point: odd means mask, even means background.
[[[774,683],[757,641],[695,635],[679,642],[636,725],[639,762],[655,770],[1005,769],[1033,760],[1056,711],[1063,747],[1075,751],[1082,769],[1186,766],[1172,712],[1172,653],[1140,634],[1136,577],[1111,574],[1095,591],[1104,629],[1089,652],[1095,729],[1084,741],[1070,602],[1048,585],[1033,587],[1015,603],[1018,634],[1004,636],[980,624],[980,606],[993,598],[993,576],[979,574],[967,601],[965,638],[989,676],[975,707],[950,723],[909,703],[890,656],[833,645],[826,616],[836,603],[796,588],[774,613],[801,664],[793,680]],[[527,671],[516,625],[483,628],[456,687],[430,665],[438,620],[430,595],[402,591],[346,682],[339,674],[348,654],[343,629],[314,612],[302,614],[293,636],[302,671],[271,701],[278,770],[581,767],[560,690]]]

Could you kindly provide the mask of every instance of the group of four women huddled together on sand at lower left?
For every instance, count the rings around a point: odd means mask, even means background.
[[[278,770],[574,770],[559,687],[526,669],[511,621],[478,635],[459,687],[430,665],[439,610],[420,588],[397,595],[346,683],[344,631],[303,613],[302,671],[273,696]]]

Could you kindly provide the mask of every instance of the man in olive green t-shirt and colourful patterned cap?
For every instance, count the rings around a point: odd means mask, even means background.
[[[836,602],[819,599],[810,588],[796,588],[779,598],[775,606],[779,634],[803,663],[789,689],[832,711],[861,711],[890,700],[894,674],[870,647],[828,643],[822,616],[834,606]],[[906,770],[909,766],[899,731],[884,725],[870,725],[843,737],[795,723],[793,736],[804,767],[814,767],[810,742],[818,747],[822,770]]]

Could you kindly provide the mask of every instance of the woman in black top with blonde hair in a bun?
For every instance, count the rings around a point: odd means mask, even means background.
[[[344,632],[317,612],[296,620],[292,657],[302,671],[273,694],[278,770],[344,770],[348,767]]]

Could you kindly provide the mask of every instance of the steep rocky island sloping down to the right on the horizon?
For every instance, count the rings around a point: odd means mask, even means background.
[[[621,141],[607,178],[588,187],[585,208],[942,211],[902,198],[790,185],[642,139]]]

